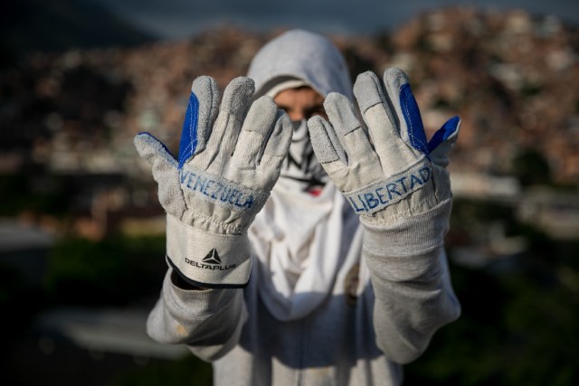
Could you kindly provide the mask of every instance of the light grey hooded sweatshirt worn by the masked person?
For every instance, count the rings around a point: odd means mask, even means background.
[[[317,33],[281,34],[248,76],[257,96],[307,85],[352,99],[343,57]],[[147,332],[213,362],[216,386],[399,385],[460,315],[443,249],[451,200],[365,229],[334,184],[312,195],[296,176],[282,170],[248,232],[248,286],[186,290],[169,268]]]

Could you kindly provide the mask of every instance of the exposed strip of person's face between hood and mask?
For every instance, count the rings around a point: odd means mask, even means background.
[[[292,121],[308,119],[316,115],[327,118],[326,110],[324,110],[324,97],[307,86],[284,89],[273,100],[278,108],[288,113]]]

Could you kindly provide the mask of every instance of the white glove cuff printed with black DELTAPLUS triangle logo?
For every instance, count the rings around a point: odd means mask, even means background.
[[[170,214],[166,259],[181,278],[199,287],[245,287],[252,271],[246,234],[201,231]]]

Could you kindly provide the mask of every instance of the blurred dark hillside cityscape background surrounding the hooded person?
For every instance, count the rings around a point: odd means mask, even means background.
[[[145,334],[165,217],[132,138],[150,131],[176,151],[192,80],[223,89],[299,26],[327,33],[353,78],[407,71],[429,133],[462,118],[447,249],[463,315],[406,366],[405,384],[579,385],[576,5],[381,3],[380,24],[372,2],[323,14],[298,1],[285,17],[274,2],[196,5],[190,17],[173,3],[3,5],[2,384],[211,384],[208,363]]]

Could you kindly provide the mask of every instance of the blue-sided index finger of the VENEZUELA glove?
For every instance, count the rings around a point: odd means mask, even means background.
[[[219,106],[219,90],[215,80],[201,76],[193,81],[179,143],[179,168],[203,151]]]

